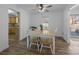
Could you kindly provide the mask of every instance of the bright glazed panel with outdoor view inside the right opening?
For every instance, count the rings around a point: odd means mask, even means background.
[[[70,35],[71,37],[79,37],[79,14],[70,15]]]

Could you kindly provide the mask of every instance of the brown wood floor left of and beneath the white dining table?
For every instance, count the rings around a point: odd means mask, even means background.
[[[42,53],[38,52],[36,46],[27,49],[26,40],[11,44],[8,49],[1,52],[0,55],[51,55],[50,49],[43,49]]]

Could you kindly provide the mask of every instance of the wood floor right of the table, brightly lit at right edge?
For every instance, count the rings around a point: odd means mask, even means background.
[[[76,40],[76,39],[75,39]],[[70,39],[70,44],[56,40],[56,55],[79,55],[79,41]]]

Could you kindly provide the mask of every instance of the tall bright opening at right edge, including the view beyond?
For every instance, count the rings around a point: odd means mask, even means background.
[[[79,49],[79,5],[70,10],[69,18],[70,46]]]

